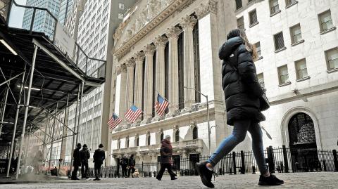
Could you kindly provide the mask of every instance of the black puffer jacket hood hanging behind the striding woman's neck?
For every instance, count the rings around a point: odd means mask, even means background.
[[[218,51],[219,58],[221,60],[227,59],[241,44],[244,44],[244,40],[242,39],[242,37],[230,38],[223,44],[223,46],[220,47],[220,50]]]

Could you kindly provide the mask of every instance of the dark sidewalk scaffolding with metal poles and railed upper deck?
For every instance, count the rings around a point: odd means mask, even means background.
[[[49,155],[48,169],[55,141],[61,140],[60,159],[64,159],[67,138],[72,138],[72,147],[75,147],[82,96],[105,82],[106,61],[89,58],[76,42],[72,55],[63,53],[63,49],[56,46],[58,20],[46,8],[4,0],[0,0],[0,5],[0,159],[6,155],[6,177],[9,177],[13,155],[17,154],[15,178],[18,179],[21,161],[29,153],[27,143],[23,149],[25,136],[42,141],[44,159]],[[11,26],[10,20],[16,16],[12,13],[14,7],[32,11],[29,30]],[[38,11],[45,11],[54,19],[51,36],[35,31]],[[96,65],[97,69],[87,69],[89,64]],[[74,103],[75,127],[71,129],[68,114]],[[61,136],[56,136],[57,124],[62,127],[59,128]],[[43,138],[33,134],[39,129],[44,133]],[[50,145],[48,152],[46,145]],[[18,149],[15,150],[15,146]]]

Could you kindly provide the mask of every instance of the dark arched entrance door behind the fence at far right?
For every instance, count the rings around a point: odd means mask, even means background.
[[[305,113],[298,113],[289,121],[289,146],[292,171],[321,171],[315,127],[311,117]]]

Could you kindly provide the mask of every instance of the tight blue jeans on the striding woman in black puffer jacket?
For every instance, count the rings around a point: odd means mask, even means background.
[[[251,122],[251,120],[234,121],[234,130],[231,135],[220,143],[213,155],[208,159],[208,162],[215,167],[220,162],[220,159],[231,152],[236,145],[244,141],[247,131],[251,133],[252,150],[258,169],[261,174],[265,174],[268,171],[268,167],[265,164],[261,126],[258,123]]]

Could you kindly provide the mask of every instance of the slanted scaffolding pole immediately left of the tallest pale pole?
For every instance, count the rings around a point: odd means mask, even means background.
[[[11,142],[11,152],[10,152],[10,155],[9,155],[6,177],[9,177],[9,169],[11,167],[11,161],[12,161],[12,157],[13,157],[14,140],[15,140],[16,126],[18,125],[18,116],[19,116],[19,111],[20,111],[21,94],[23,93],[23,82],[25,82],[26,64],[25,64],[24,70],[25,71],[23,72],[23,79],[21,79],[21,84],[20,84],[20,93],[19,93],[18,105],[16,105],[15,121],[14,121],[13,135],[12,135],[12,142]]]

